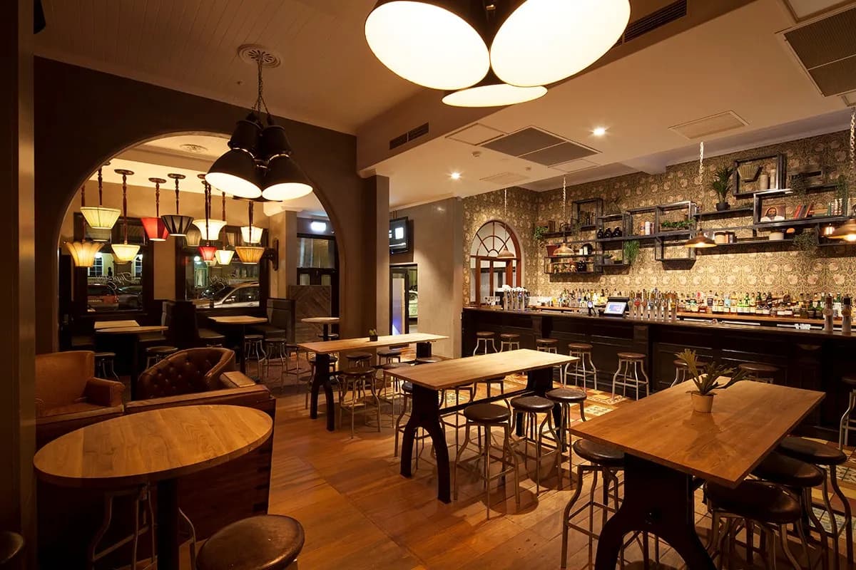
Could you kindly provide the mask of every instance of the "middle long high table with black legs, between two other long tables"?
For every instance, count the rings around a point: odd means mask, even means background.
[[[400,367],[387,370],[390,376],[413,382],[413,410],[404,437],[401,440],[401,474],[411,476],[413,439],[421,427],[430,436],[437,454],[437,498],[451,499],[449,492],[449,449],[443,428],[440,426],[440,398],[437,392],[455,386],[469,385],[479,380],[502,378],[508,374],[527,373],[526,390],[506,392],[502,397],[518,393],[535,393],[544,396],[553,387],[553,367],[579,360],[576,356],[557,355],[538,350],[506,350],[488,355],[467,356],[449,361],[433,362],[422,366]],[[465,408],[444,408],[444,413]]]

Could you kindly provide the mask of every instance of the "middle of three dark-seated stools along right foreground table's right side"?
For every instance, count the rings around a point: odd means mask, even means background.
[[[804,541],[805,537],[808,536],[806,531],[809,533],[811,530],[817,532],[817,535],[821,538],[822,545],[820,560],[823,561],[823,567],[827,567],[827,562],[829,561],[829,542],[827,541],[827,538],[829,535],[823,529],[823,525],[820,523],[820,520],[817,519],[817,514],[814,513],[814,509],[811,508],[811,488],[823,485],[823,481],[826,479],[823,471],[818,467],[811,465],[811,463],[800,461],[793,457],[788,457],[788,455],[783,455],[778,451],[770,451],[770,453],[764,457],[764,460],[758,464],[758,467],[755,467],[752,470],[752,475],[758,477],[758,479],[764,479],[770,483],[782,485],[797,494],[797,500],[800,502],[800,508],[803,513],[803,516],[800,517],[800,521],[796,523],[797,532],[799,532],[800,538]],[[811,522],[811,526],[808,528],[804,527],[806,521]],[[748,538],[746,538],[746,546],[748,550],[746,559],[751,563],[751,527],[747,527],[746,532],[748,532]],[[807,551],[805,552],[805,560],[809,563],[809,567],[813,567]]]

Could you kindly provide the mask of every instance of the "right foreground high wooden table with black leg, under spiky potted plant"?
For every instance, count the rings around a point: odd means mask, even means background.
[[[693,412],[692,380],[571,426],[627,455],[624,501],[597,541],[597,570],[612,570],[628,532],[666,540],[691,570],[713,562],[695,532],[693,478],[740,485],[823,399],[823,392],[761,382],[716,391],[713,413]],[[578,483],[579,485],[579,483]]]

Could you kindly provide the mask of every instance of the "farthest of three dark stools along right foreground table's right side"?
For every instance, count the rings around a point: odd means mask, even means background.
[[[847,497],[844,496],[841,487],[838,486],[838,476],[835,473],[839,465],[847,462],[847,455],[827,444],[794,436],[782,439],[776,451],[794,457],[794,459],[811,463],[823,472],[823,508],[829,513],[829,525],[832,527],[832,549],[835,553],[835,559],[838,559],[838,540],[843,531],[847,541],[847,563],[853,567],[853,514],[850,502],[847,501]],[[841,501],[843,511],[833,510],[829,503],[829,484],[832,485],[835,496]],[[821,505],[815,504],[814,506],[819,507]],[[841,529],[838,527],[835,514],[841,514],[844,518]]]

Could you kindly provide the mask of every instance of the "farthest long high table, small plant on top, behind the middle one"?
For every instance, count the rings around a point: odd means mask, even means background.
[[[336,431],[336,404],[333,401],[333,386],[330,384],[330,355],[334,352],[348,352],[349,350],[371,350],[382,349],[394,344],[416,344],[416,356],[427,358],[431,356],[431,343],[443,340],[438,334],[426,334],[414,332],[413,334],[396,334],[377,337],[377,340],[364,338],[342,338],[339,340],[327,340],[318,343],[301,343],[298,346],[308,352],[315,353],[315,376],[312,377],[312,397],[310,401],[309,417],[312,420],[318,417],[318,392],[324,388],[324,398],[327,402],[327,429]]]

